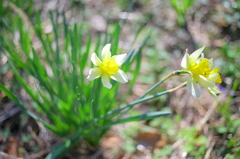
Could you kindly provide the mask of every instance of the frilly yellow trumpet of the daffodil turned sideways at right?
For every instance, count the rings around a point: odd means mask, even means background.
[[[202,75],[202,76],[208,78],[210,74],[218,73],[217,67],[215,67],[211,71],[210,63],[209,63],[209,60],[207,60],[207,59],[202,59],[198,64],[191,64],[191,66],[188,68],[188,70],[192,72],[194,78],[196,78],[199,75]],[[216,82],[216,83],[222,82],[219,73],[218,73],[217,80],[214,82]]]

